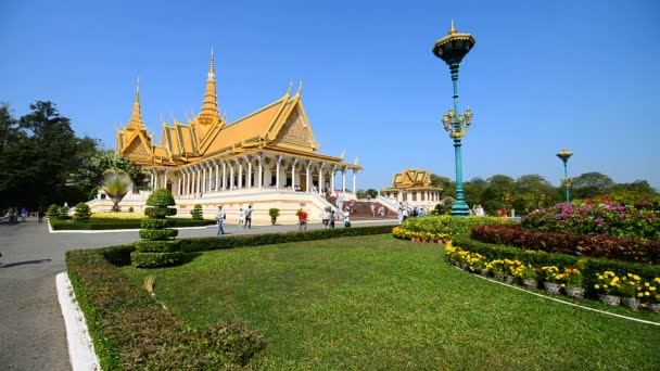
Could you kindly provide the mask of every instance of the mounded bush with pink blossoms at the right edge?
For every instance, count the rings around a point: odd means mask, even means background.
[[[596,204],[587,200],[582,205],[557,204],[531,213],[522,218],[521,226],[537,232],[660,240],[660,214],[652,207],[637,209],[607,200],[602,202],[605,203]]]

